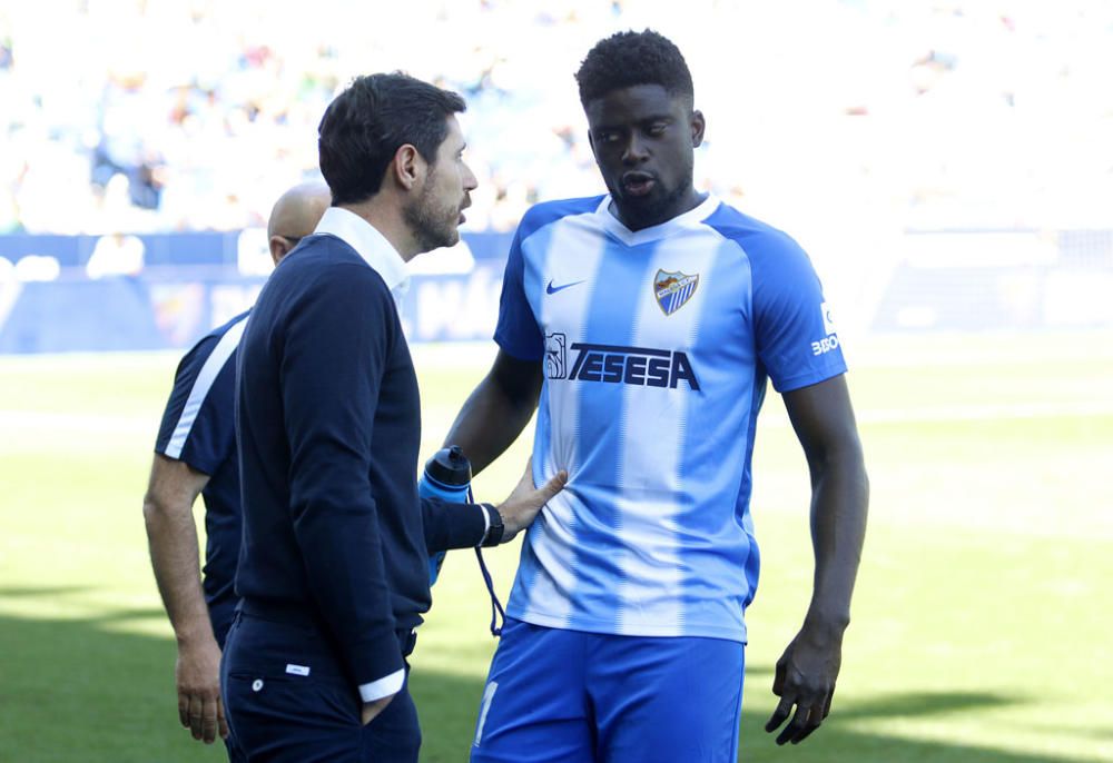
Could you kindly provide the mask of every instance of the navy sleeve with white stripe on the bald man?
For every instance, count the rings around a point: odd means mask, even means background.
[[[210,476],[236,445],[236,348],[244,323],[205,337],[178,364],[155,442],[156,453]]]

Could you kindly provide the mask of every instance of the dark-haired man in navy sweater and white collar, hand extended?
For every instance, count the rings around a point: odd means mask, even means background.
[[[528,469],[498,508],[423,511],[417,497],[421,410],[397,299],[405,261],[459,240],[475,188],[463,110],[403,75],[357,78],[333,101],[318,140],[333,206],[244,334],[243,603],[221,686],[252,759],[416,762],[405,657],[431,603],[426,538],[504,542],[567,478],[534,489]]]

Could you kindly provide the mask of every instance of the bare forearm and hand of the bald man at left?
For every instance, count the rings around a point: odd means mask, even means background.
[[[150,564],[178,643],[178,717],[194,739],[206,743],[217,733],[228,735],[220,705],[220,647],[201,592],[193,513],[208,479],[185,462],[156,454],[142,506]]]

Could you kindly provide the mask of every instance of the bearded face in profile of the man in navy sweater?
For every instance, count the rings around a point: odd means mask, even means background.
[[[479,185],[464,164],[464,137],[460,122],[449,117],[449,133],[436,150],[417,198],[405,209],[406,222],[422,251],[451,247],[460,240],[459,226],[471,206],[471,191]]]

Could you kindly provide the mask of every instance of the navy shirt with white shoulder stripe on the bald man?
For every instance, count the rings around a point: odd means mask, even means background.
[[[205,501],[205,601],[217,643],[232,627],[242,512],[236,458],[236,353],[247,326],[243,313],[203,337],[174,376],[155,452],[209,476]]]

